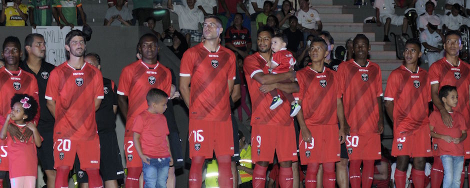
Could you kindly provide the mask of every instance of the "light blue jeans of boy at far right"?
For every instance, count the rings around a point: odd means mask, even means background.
[[[459,188],[463,169],[463,156],[441,155],[440,159],[444,166],[443,188]]]

